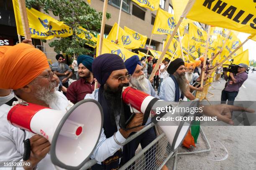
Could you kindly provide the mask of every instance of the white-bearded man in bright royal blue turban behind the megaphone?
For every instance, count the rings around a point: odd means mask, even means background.
[[[142,66],[138,55],[133,55],[124,63],[126,69],[128,70],[128,74],[131,74],[131,85],[138,88],[138,90],[156,97],[156,92],[153,89],[151,82],[145,77],[144,72],[142,71]]]

